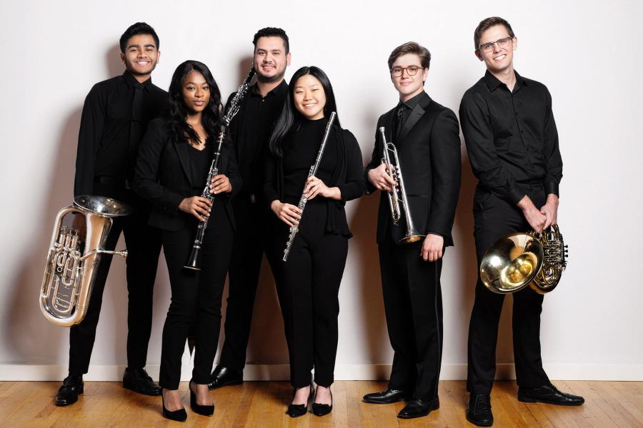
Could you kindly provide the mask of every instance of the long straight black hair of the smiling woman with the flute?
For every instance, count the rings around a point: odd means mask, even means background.
[[[274,124],[274,129],[272,130],[272,135],[270,136],[270,151],[274,156],[278,158],[284,157],[284,141],[288,133],[296,131],[301,125],[301,113],[296,109],[294,103],[294,86],[301,76],[310,74],[316,78],[319,83],[321,83],[321,88],[324,88],[324,94],[326,95],[326,106],[324,106],[324,117],[328,118],[332,111],[337,111],[337,106],[335,105],[335,94],[333,92],[333,86],[331,85],[328,76],[324,71],[319,67],[310,66],[310,67],[301,67],[299,70],[295,71],[294,75],[290,79],[290,84],[288,85],[288,96],[286,97],[286,103],[284,104],[281,114]],[[335,125],[339,125],[339,116],[335,118]]]

